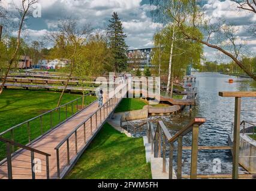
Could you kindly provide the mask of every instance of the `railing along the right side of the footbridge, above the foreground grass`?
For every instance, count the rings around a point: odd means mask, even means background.
[[[99,107],[92,115],[88,116],[82,123],[77,125],[77,127],[55,147],[58,178],[64,177],[68,168],[82,155],[83,150],[86,149],[92,138],[100,131],[106,119],[124,97],[123,93],[122,90],[119,90],[112,98],[109,98],[103,106]]]

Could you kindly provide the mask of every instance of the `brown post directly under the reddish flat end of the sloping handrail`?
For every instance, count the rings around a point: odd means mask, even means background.
[[[192,130],[192,151],[190,178],[197,179],[197,156],[198,156],[199,125],[194,125]]]

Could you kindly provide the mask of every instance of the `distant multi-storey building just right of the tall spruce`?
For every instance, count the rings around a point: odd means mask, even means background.
[[[145,67],[152,67],[152,51],[153,48],[128,50],[128,67],[131,67],[133,70],[137,68],[143,70]]]

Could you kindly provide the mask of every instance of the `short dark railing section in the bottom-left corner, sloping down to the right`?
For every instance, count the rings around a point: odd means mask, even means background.
[[[15,141],[11,141],[6,138],[0,137],[0,141],[5,144],[6,158],[7,158],[6,162],[4,162],[4,164],[1,165],[0,177],[8,177],[8,179],[13,179],[13,175],[15,175],[16,177],[25,176],[25,175],[29,176],[29,174],[25,174],[22,171],[24,170],[25,172],[28,172],[28,170],[31,170],[32,179],[35,179],[36,177],[39,177],[40,179],[50,178],[50,175],[49,175],[49,156],[51,156],[50,154],[41,152],[40,150],[37,150],[37,149],[33,149],[32,147],[23,146],[20,143],[16,143]],[[15,158],[15,155],[11,154],[12,147],[19,148],[19,155],[22,155],[22,158],[19,158],[18,160]],[[35,154],[37,154],[36,157],[35,157]],[[43,156],[44,158],[40,158],[40,156]],[[40,160],[39,171],[37,171],[37,168],[35,167],[36,165],[35,158]],[[20,162],[23,162],[23,165],[19,165]],[[29,167],[28,165],[25,165],[25,164],[29,164]],[[42,170],[41,167],[45,167],[45,170]],[[2,168],[5,168],[5,170],[3,170]],[[13,174],[13,168],[19,169],[19,171],[16,171],[16,174]]]

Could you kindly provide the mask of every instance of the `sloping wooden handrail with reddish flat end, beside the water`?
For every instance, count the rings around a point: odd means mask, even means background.
[[[178,133],[176,133],[170,140],[169,143],[174,143],[181,136],[188,134],[194,125],[202,125],[206,122],[205,118],[194,118],[193,121],[187,127],[182,128]]]

